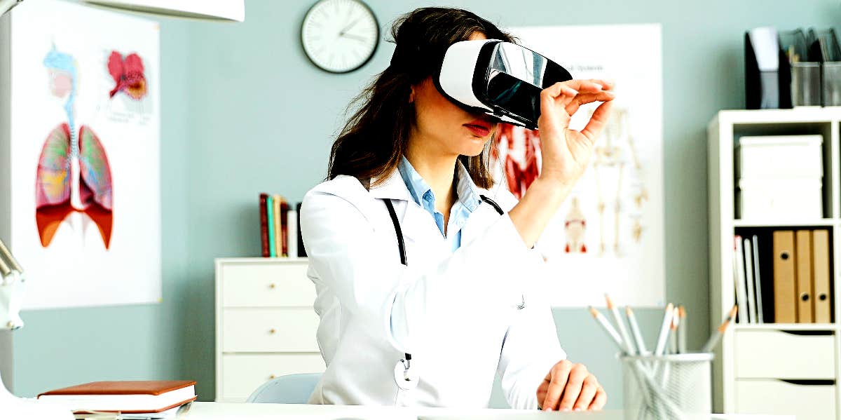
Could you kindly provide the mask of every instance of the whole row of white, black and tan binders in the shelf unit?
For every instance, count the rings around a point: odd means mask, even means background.
[[[829,231],[771,231],[770,236],[764,238],[772,242],[770,247],[765,242],[763,248],[764,253],[773,252],[770,259],[766,258],[767,254],[759,253],[757,235],[749,238],[737,235],[733,242],[733,279],[740,309],[738,323],[832,322]],[[773,280],[773,283],[763,283],[763,279]],[[763,284],[766,285],[765,294]],[[772,301],[766,300],[763,305],[763,297]],[[766,319],[769,317],[770,320]]]

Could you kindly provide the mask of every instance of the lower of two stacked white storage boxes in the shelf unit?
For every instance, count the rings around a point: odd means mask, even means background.
[[[823,217],[820,178],[742,178],[736,216],[751,221],[817,220]]]

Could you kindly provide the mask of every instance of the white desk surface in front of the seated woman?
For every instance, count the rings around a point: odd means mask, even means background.
[[[542,420],[563,418],[568,420],[622,420],[621,410],[603,412],[532,412],[521,410],[459,409],[459,408],[407,408],[373,406],[311,406],[306,404],[246,404],[225,402],[194,402],[186,420],[253,420],[307,418],[319,420],[417,420],[419,416],[434,416],[436,420],[495,419]],[[794,420],[794,416],[714,415],[698,420]]]

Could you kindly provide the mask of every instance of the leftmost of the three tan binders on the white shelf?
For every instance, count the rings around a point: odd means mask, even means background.
[[[794,231],[774,231],[774,322],[797,322]]]

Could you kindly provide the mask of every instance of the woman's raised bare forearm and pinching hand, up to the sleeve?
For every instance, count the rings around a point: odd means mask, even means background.
[[[543,89],[540,94],[542,166],[520,203],[509,215],[526,247],[534,246],[575,181],[584,173],[596,138],[605,128],[614,98],[612,83],[604,80],[570,80]],[[584,104],[603,102],[584,130],[569,130],[569,120]]]

